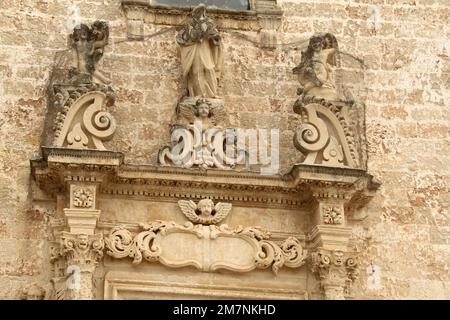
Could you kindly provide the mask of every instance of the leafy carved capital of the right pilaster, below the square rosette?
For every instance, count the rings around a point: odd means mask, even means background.
[[[311,253],[312,272],[327,300],[344,300],[358,277],[356,254],[319,248]]]

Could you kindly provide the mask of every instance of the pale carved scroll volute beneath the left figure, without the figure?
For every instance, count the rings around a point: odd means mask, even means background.
[[[116,131],[116,121],[106,111],[109,101],[107,94],[91,91],[66,106],[59,114],[54,146],[106,150],[103,141]]]

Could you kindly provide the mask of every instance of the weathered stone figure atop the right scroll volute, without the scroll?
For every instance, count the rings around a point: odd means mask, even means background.
[[[293,69],[303,86],[299,88],[299,94],[330,101],[339,100],[334,82],[337,49],[337,40],[331,33],[309,40],[308,49],[302,52],[300,64]]]

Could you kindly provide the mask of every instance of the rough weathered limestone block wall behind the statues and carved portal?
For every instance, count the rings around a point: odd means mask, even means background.
[[[279,0],[279,40],[332,32],[343,57],[343,83],[366,103],[369,173],[382,186],[368,218],[350,222],[362,251],[356,297],[450,299],[450,4],[447,0]],[[3,0],[0,4],[0,298],[19,298],[26,283],[48,279],[48,220],[56,208],[32,205],[29,159],[39,157],[46,88],[56,51],[67,48],[70,5],[82,22],[108,21],[102,70],[117,90],[118,121],[108,145],[136,164],[156,164],[180,96],[175,32],[126,39],[119,0]],[[146,25],[145,34],[161,26]],[[249,32],[250,36],[255,35]],[[224,34],[221,79],[230,124],[279,128],[281,170],[302,159],[292,145],[300,45],[266,50]],[[378,290],[365,269],[381,269]]]

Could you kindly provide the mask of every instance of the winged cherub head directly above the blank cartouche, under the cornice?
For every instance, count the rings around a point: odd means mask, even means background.
[[[206,225],[219,223],[231,210],[231,203],[219,202],[214,206],[211,199],[202,199],[198,204],[192,200],[180,200],[178,205],[191,222]]]

